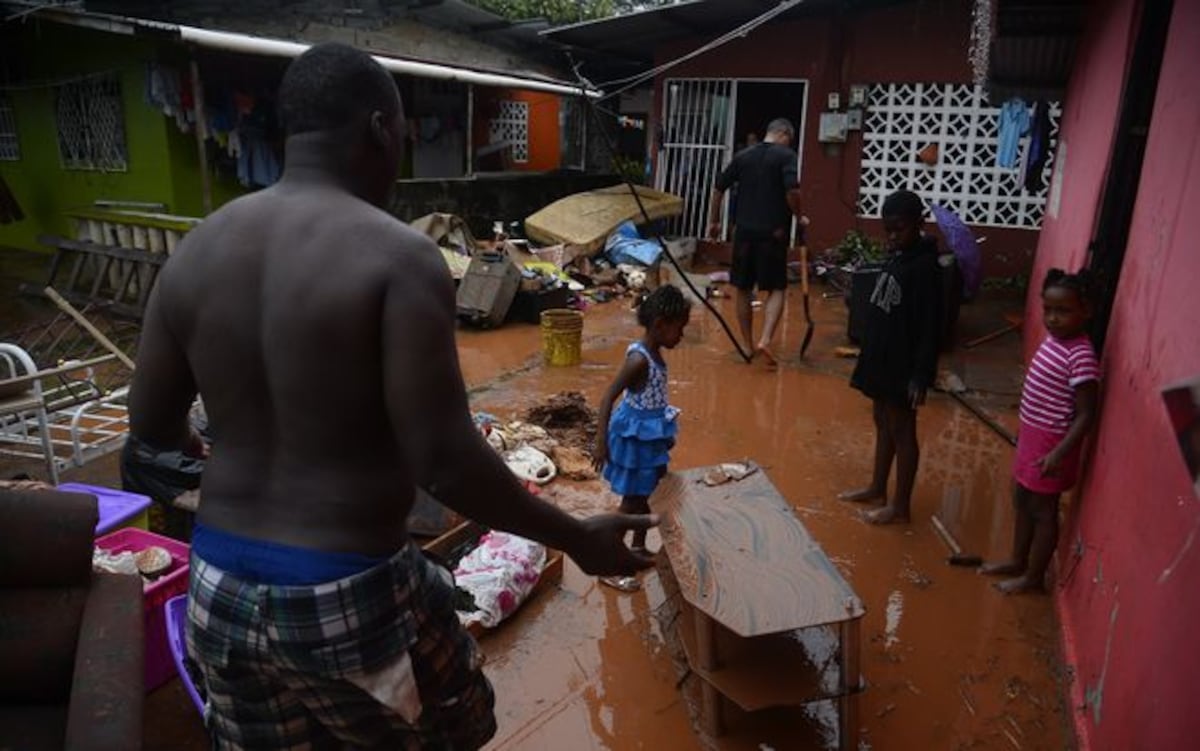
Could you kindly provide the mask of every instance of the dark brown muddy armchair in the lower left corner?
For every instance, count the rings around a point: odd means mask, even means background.
[[[92,573],[96,499],[0,488],[0,749],[142,747],[142,578]]]

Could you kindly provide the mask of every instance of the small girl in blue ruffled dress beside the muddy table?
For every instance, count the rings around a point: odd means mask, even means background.
[[[662,349],[674,349],[690,316],[691,301],[678,287],[665,284],[650,293],[637,308],[637,323],[646,334],[629,346],[624,366],[600,401],[595,465],[622,497],[622,513],[649,513],[647,500],[666,474],[679,410],[667,404]],[[622,393],[613,411],[613,402]],[[634,531],[631,547],[646,552],[646,530]]]

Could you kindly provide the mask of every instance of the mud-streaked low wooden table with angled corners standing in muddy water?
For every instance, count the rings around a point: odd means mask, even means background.
[[[716,487],[708,471],[668,474],[650,497],[702,723],[721,735],[726,699],[745,713],[835,699],[839,745],[857,749],[862,601],[762,470]],[[835,632],[835,660],[805,647],[815,629]]]

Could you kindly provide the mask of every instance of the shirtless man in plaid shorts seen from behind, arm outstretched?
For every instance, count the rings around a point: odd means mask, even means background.
[[[382,210],[403,110],[365,53],[320,44],[284,74],[283,176],[191,232],[146,308],[130,396],[148,444],[214,435],[193,534],[188,653],[217,747],[476,749],[491,685],[445,572],[406,531],[414,488],[569,553],[650,565],[656,519],[576,519],[529,495],[472,425],[454,284]]]

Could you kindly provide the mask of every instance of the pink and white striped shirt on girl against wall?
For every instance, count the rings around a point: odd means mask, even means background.
[[[1100,379],[1096,350],[1086,336],[1056,340],[1038,347],[1021,390],[1021,422],[1066,433],[1075,419],[1075,387]]]

